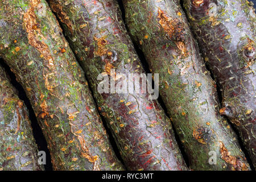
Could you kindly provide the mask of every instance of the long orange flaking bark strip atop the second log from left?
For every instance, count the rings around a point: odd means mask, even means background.
[[[44,57],[44,59],[49,61],[49,66],[53,65],[53,58],[51,56],[51,52],[46,43],[43,42],[44,38],[43,34],[40,31],[40,28],[36,26],[36,15],[35,8],[38,6],[40,1],[30,0],[30,9],[24,13],[23,22],[27,31],[28,43],[35,47]],[[41,40],[40,40],[41,39]]]

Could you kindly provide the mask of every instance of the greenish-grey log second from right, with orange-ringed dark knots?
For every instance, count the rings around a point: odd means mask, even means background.
[[[236,135],[218,114],[214,82],[178,1],[124,0],[127,26],[195,170],[247,170]],[[212,152],[211,152],[212,151]],[[210,152],[210,153],[209,153]],[[215,152],[216,164],[209,164]]]

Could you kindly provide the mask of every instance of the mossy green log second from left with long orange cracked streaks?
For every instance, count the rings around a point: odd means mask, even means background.
[[[123,169],[46,1],[0,1],[0,56],[26,90],[53,169]]]

